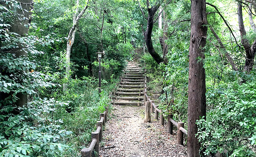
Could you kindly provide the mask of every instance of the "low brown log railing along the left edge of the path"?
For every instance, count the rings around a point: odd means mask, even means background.
[[[109,92],[109,98],[112,98],[112,93]],[[105,126],[106,122],[108,121],[108,107],[105,108],[103,113],[100,113],[100,120],[97,121],[97,129],[95,132],[91,133],[91,144],[89,148],[83,148],[81,150],[81,157],[99,157],[99,142],[102,141],[102,134],[103,134],[103,126]]]

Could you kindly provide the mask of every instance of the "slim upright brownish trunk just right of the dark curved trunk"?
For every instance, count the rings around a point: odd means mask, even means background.
[[[168,63],[166,55],[168,53],[168,45],[165,43],[165,40],[168,39],[168,24],[167,24],[167,15],[165,11],[163,11],[163,60],[164,63]]]

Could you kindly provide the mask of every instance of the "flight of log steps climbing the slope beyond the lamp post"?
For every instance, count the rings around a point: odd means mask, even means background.
[[[139,66],[128,66],[113,93],[113,105],[140,106],[144,104],[144,76]]]

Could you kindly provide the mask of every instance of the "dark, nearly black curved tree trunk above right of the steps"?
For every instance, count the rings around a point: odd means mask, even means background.
[[[157,11],[157,9],[158,9],[158,7],[156,5],[154,5],[151,8],[148,8],[147,29],[145,31],[144,36],[145,36],[148,52],[153,57],[153,59],[158,64],[160,64],[161,62],[163,62],[163,59],[157,52],[155,52],[155,49],[154,49],[153,43],[152,43],[152,39],[151,39],[152,29],[153,29],[153,25],[154,25],[154,16],[155,16],[155,12]]]

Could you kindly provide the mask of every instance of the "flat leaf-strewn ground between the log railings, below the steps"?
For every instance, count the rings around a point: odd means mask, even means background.
[[[151,115],[144,123],[144,106],[113,106],[103,131],[101,157],[187,157],[184,146],[176,144],[176,136],[167,133]]]

